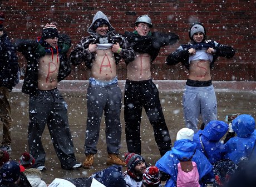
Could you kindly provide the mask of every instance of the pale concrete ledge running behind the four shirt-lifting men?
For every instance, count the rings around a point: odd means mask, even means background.
[[[181,91],[184,89],[186,80],[154,80],[159,92]],[[23,80],[13,88],[13,92],[21,92]],[[213,81],[216,92],[255,92],[256,82],[247,81]],[[62,80],[58,84],[61,91],[85,92],[88,86],[88,80]],[[125,80],[119,80],[121,90],[124,90]]]

